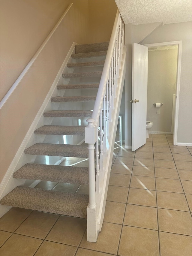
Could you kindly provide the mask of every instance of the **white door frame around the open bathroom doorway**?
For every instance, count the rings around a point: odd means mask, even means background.
[[[177,145],[177,130],[178,130],[178,116],[179,116],[179,92],[180,92],[180,79],[181,79],[181,55],[182,55],[182,41],[172,41],[164,43],[155,43],[155,44],[144,44],[149,48],[152,47],[161,47],[161,46],[178,46],[177,54],[177,80],[176,80],[176,106],[175,106],[175,122],[174,122],[174,131],[173,131],[173,145]]]

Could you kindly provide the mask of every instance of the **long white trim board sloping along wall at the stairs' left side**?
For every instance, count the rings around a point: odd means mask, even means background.
[[[28,132],[27,132],[27,134],[25,136],[25,138],[23,139],[23,141],[22,141],[18,151],[16,152],[15,157],[13,158],[13,161],[11,162],[11,164],[10,164],[10,166],[9,166],[5,176],[4,176],[4,178],[1,181],[1,184],[0,184],[0,198],[2,197],[2,195],[4,193],[4,190],[5,190],[5,188],[8,185],[9,180],[10,180],[10,178],[13,175],[15,167],[18,164],[19,159],[21,158],[21,156],[22,156],[22,154],[23,154],[23,152],[25,150],[25,148],[27,146],[27,143],[29,142],[32,134],[34,133],[35,128],[38,125],[38,122],[39,122],[41,116],[43,115],[44,110],[45,110],[47,104],[50,101],[50,98],[52,97],[52,94],[53,94],[53,92],[55,90],[55,87],[57,86],[57,84],[59,82],[59,79],[62,76],[63,70],[64,70],[65,66],[67,65],[67,62],[69,61],[71,54],[73,53],[75,45],[76,45],[76,43],[73,42],[72,46],[70,47],[69,52],[67,53],[67,56],[64,59],[63,64],[61,65],[61,68],[58,71],[58,74],[57,74],[54,82],[52,83],[52,86],[51,86],[51,88],[50,88],[50,90],[49,90],[49,92],[48,92],[48,94],[47,94],[47,96],[46,96],[46,98],[45,98],[45,100],[44,100],[40,110],[38,111],[37,115],[35,116],[35,119],[32,122],[32,125],[30,126],[30,128],[29,128],[29,130],[28,130]],[[11,190],[13,190],[13,188],[10,187],[8,190],[11,191]]]

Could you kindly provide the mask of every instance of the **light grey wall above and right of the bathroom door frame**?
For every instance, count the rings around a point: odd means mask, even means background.
[[[192,143],[192,22],[162,25],[142,44],[182,40],[177,142]]]

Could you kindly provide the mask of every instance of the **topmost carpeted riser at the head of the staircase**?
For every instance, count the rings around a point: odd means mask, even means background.
[[[98,51],[107,51],[109,42],[93,43],[93,44],[77,44],[75,53],[90,53]]]

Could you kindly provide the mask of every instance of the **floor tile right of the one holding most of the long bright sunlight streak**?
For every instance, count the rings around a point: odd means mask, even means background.
[[[183,193],[183,188],[178,179],[156,178],[156,190]]]

